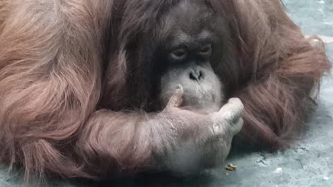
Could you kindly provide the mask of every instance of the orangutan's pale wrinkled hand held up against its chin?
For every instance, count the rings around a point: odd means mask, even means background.
[[[233,136],[243,126],[241,114],[244,105],[238,98],[231,98],[219,111],[198,115],[178,108],[182,96],[183,89],[178,86],[167,107],[158,114],[161,118],[173,116],[164,124],[170,125],[164,126],[164,130],[167,130],[164,134],[169,132],[171,135],[170,147],[162,148],[162,152],[165,151],[164,166],[173,172],[187,175],[203,168],[221,165],[228,156]],[[180,119],[188,123],[179,121]],[[191,130],[178,124],[189,124],[188,128]]]

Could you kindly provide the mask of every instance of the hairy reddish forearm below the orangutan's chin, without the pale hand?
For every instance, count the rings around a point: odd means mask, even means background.
[[[130,172],[154,167],[152,125],[155,114],[101,110],[89,119],[78,138],[78,155],[89,170]],[[99,173],[101,172],[101,173]]]

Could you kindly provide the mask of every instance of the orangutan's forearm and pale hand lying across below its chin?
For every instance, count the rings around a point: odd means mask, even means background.
[[[243,125],[243,105],[231,99],[219,112],[196,114],[178,108],[182,89],[160,113],[95,112],[80,134],[78,153],[94,175],[167,170],[187,175],[219,166]]]

